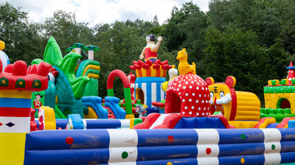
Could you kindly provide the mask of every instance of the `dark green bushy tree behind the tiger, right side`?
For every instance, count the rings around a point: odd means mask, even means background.
[[[260,47],[254,32],[239,29],[220,32],[213,27],[208,29],[206,41],[209,45],[204,65],[207,66],[207,76],[216,82],[234,76],[236,90],[251,91],[263,98],[262,86],[267,80],[286,76],[283,72],[287,67],[287,54],[278,42],[269,48]]]

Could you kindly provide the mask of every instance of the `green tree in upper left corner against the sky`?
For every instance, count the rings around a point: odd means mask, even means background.
[[[41,37],[41,24],[28,21],[28,12],[10,3],[0,3],[0,40],[6,43],[10,62],[32,61],[42,55],[46,40]]]

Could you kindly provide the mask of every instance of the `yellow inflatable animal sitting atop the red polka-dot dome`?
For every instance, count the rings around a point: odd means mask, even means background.
[[[187,63],[187,52],[185,52],[185,48],[178,52],[178,56],[176,57],[179,60],[178,71],[180,75],[193,73],[196,74],[196,64],[189,65]]]

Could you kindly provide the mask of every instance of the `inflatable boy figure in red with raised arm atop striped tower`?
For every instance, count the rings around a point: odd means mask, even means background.
[[[146,36],[146,47],[142,50],[142,54],[140,54],[140,59],[142,60],[145,58],[144,61],[150,60],[151,62],[155,63],[157,61],[157,51],[160,47],[160,43],[162,42],[162,36],[158,37],[158,43],[155,44],[155,35],[149,34]]]

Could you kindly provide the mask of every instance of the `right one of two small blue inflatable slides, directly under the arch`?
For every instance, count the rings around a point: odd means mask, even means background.
[[[126,111],[119,106],[119,102],[120,99],[113,96],[104,98],[104,106],[111,109],[117,119],[124,119],[126,117]]]

